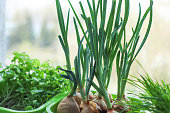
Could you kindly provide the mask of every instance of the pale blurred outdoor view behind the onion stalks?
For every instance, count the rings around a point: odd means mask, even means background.
[[[85,0],[81,0],[87,7]],[[69,5],[67,0],[60,0],[66,19]],[[71,0],[77,13],[80,14],[78,0]],[[108,0],[111,2],[111,0]],[[149,6],[149,0],[130,0],[130,18],[127,26],[127,36],[135,27],[139,12],[139,2],[142,14]],[[153,0],[153,24],[148,40],[137,60],[145,71],[153,78],[170,82],[170,0]],[[110,3],[108,3],[108,6]],[[88,11],[88,8],[86,8]],[[108,12],[109,12],[108,8]],[[54,65],[64,66],[65,56],[57,36],[60,34],[55,0],[6,0],[6,64],[15,51],[26,52],[32,58],[41,61],[51,60]],[[69,46],[71,61],[77,53],[77,43],[71,12],[69,24]],[[145,21],[141,36],[144,35],[148,20]],[[5,54],[5,53],[4,53]],[[72,63],[73,64],[73,63]],[[130,74],[139,76],[143,69],[134,62]],[[110,90],[116,92],[116,77],[113,70]],[[130,88],[130,86],[128,86]]]

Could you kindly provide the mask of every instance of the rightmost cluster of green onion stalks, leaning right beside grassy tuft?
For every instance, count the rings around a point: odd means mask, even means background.
[[[142,18],[141,18],[141,6],[139,4],[139,16],[138,16],[137,24],[136,24],[135,30],[132,29],[133,34],[129,41],[126,41],[125,29],[123,31],[123,34],[124,34],[123,42],[124,43],[120,44],[119,46],[120,50],[117,53],[117,57],[116,57],[116,69],[117,69],[117,78],[118,78],[118,88],[117,88],[118,89],[117,91],[118,100],[121,100],[125,94],[125,86],[126,86],[126,82],[128,79],[131,65],[148,38],[148,34],[149,34],[149,31],[151,29],[151,24],[152,24],[152,4],[153,4],[152,0],[150,0],[150,6],[145,11]],[[148,23],[146,33],[144,37],[142,38],[139,36],[139,33],[140,33],[140,30],[142,28],[142,25],[147,15],[150,15],[149,23]],[[141,39],[141,43],[139,44],[140,39]],[[137,48],[138,44],[139,44],[139,47]]]

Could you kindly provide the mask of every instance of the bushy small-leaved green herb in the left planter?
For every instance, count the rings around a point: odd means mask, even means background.
[[[14,110],[35,109],[53,96],[69,89],[69,82],[60,77],[58,68],[42,64],[25,53],[13,53],[11,64],[0,76],[0,106]]]

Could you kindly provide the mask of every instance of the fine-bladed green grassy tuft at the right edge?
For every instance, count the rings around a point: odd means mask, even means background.
[[[148,73],[141,75],[141,78],[134,78],[135,80],[130,80],[129,83],[140,89],[141,92],[137,96],[143,101],[137,104],[137,108],[155,113],[169,113],[170,84],[154,81]]]

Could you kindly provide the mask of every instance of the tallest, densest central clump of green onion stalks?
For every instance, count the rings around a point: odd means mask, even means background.
[[[85,32],[80,19],[70,1],[69,4],[86,39],[86,43],[89,47],[90,53],[92,54],[94,61],[96,62],[95,77],[97,78],[99,86],[97,86],[93,81],[92,86],[99,92],[101,96],[104,97],[107,107],[112,108],[106,90],[108,89],[110,82],[112,64],[118,52],[119,45],[123,36],[123,31],[125,29],[129,16],[129,0],[125,0],[124,20],[120,18],[122,0],[119,0],[117,13],[115,13],[116,0],[112,0],[112,8],[107,25],[105,25],[107,0],[98,0],[97,4],[94,0],[92,0],[92,3],[87,0],[90,17],[87,17],[82,3],[79,2],[82,11],[81,16],[85,21],[87,33]],[[99,13],[100,26],[98,26],[97,21]]]

